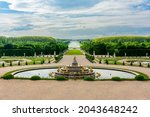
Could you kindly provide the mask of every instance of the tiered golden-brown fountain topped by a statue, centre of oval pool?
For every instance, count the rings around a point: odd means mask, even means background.
[[[63,76],[72,79],[82,79],[84,77],[94,77],[95,72],[92,68],[84,67],[78,64],[76,57],[73,59],[72,65],[58,68],[55,77]]]

